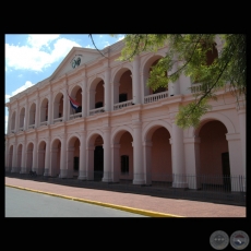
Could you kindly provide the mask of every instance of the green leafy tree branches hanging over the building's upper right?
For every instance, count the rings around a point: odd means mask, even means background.
[[[220,55],[215,48],[216,36],[224,40]],[[226,87],[226,83],[237,101],[239,97],[246,99],[247,47],[243,34],[127,34],[124,44],[118,59],[121,61],[132,61],[143,51],[168,47],[166,56],[152,68],[147,86],[153,89],[167,87],[182,73],[193,83],[202,84],[201,89],[194,93],[193,101],[179,108],[176,123],[182,129],[200,124],[200,118],[211,108],[208,100],[216,99],[215,92]],[[172,73],[167,76],[166,72]]]

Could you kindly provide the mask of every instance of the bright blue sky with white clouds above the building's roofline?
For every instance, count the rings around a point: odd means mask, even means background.
[[[98,49],[115,44],[123,35],[93,35]],[[50,76],[72,47],[94,48],[88,35],[5,34],[5,103],[11,96]],[[5,132],[8,122],[5,108]]]

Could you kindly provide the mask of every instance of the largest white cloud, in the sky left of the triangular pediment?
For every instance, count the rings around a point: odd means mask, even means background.
[[[7,68],[40,72],[51,63],[64,58],[72,47],[81,47],[75,41],[58,37],[59,35],[33,35],[28,37],[28,46],[5,44]],[[53,43],[51,51],[43,51],[41,46],[48,46],[49,43]]]

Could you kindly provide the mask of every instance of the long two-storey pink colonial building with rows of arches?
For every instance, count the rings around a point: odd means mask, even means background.
[[[81,180],[100,171],[103,182],[190,189],[200,188],[202,175],[220,177],[219,184],[226,176],[246,176],[243,103],[227,87],[217,91],[200,127],[181,130],[175,124],[179,106],[193,100],[200,84],[182,75],[153,92],[146,85],[151,67],[168,48],[121,62],[122,47],[123,40],[105,48],[107,58],[74,47],[51,76],[10,98],[5,169]],[[82,109],[75,112],[69,96]]]

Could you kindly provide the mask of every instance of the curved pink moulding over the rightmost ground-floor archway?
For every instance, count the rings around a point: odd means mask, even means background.
[[[219,113],[219,112],[217,112],[217,113],[216,112],[208,112],[208,113],[202,116],[201,123],[200,123],[199,128],[196,128],[196,129],[190,128],[188,133],[186,133],[186,134],[188,135],[188,138],[198,136],[203,124],[205,124],[206,122],[208,122],[211,120],[220,121],[227,128],[228,133],[236,133],[236,129],[235,129],[232,122],[225,115]]]

